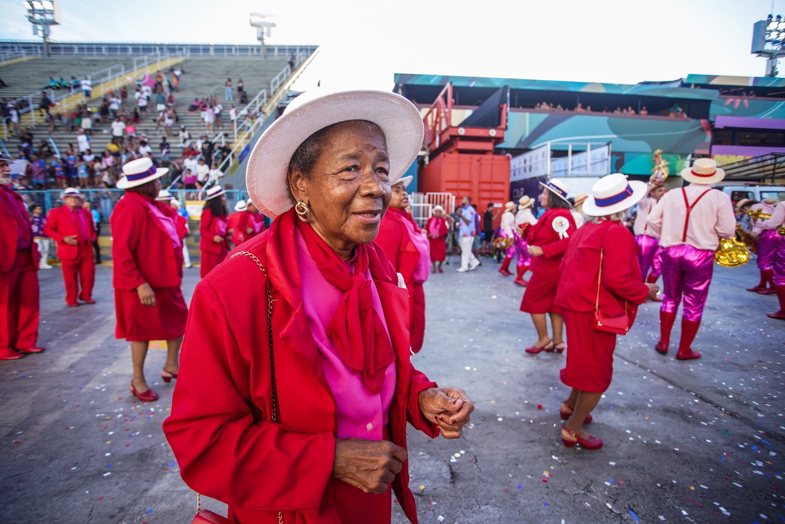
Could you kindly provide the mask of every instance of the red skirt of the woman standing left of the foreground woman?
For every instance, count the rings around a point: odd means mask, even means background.
[[[188,306],[179,287],[159,288],[155,306],[143,306],[137,291],[115,289],[115,337],[128,341],[173,340],[185,332]]]

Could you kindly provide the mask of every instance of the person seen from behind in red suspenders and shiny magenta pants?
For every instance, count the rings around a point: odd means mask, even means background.
[[[713,159],[697,159],[681,171],[690,184],[667,192],[648,216],[647,231],[663,248],[663,305],[659,310],[659,342],[655,350],[667,354],[670,332],[684,296],[678,360],[699,358],[692,350],[703,317],[714,272],[714,251],[721,238],[736,233],[730,197],[710,185],[725,178]]]

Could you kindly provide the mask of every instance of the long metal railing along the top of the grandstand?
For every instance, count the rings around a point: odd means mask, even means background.
[[[288,57],[292,53],[313,53],[318,46],[265,46],[265,56]],[[43,43],[38,40],[0,40],[0,53],[26,53],[41,57]],[[188,53],[195,57],[254,57],[261,56],[261,46],[232,44],[144,44],[109,42],[50,42],[49,53],[57,55],[143,55],[149,53]]]

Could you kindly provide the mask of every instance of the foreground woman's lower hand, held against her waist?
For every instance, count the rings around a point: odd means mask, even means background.
[[[408,459],[406,449],[392,442],[360,438],[335,441],[333,476],[365,493],[385,493]]]

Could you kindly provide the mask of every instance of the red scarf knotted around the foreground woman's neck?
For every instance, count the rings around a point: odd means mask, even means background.
[[[338,309],[327,325],[327,335],[346,365],[354,372],[363,373],[365,385],[378,394],[385,382],[387,366],[395,361],[395,353],[382,319],[374,310],[373,280],[367,279],[365,273],[370,269],[372,276],[392,280],[394,276],[389,274],[393,272],[392,266],[385,258],[379,258],[374,244],[358,244],[354,250],[356,256],[352,273],[349,265],[311,225],[300,220],[294,220],[294,223],[323,276],[343,291]]]

